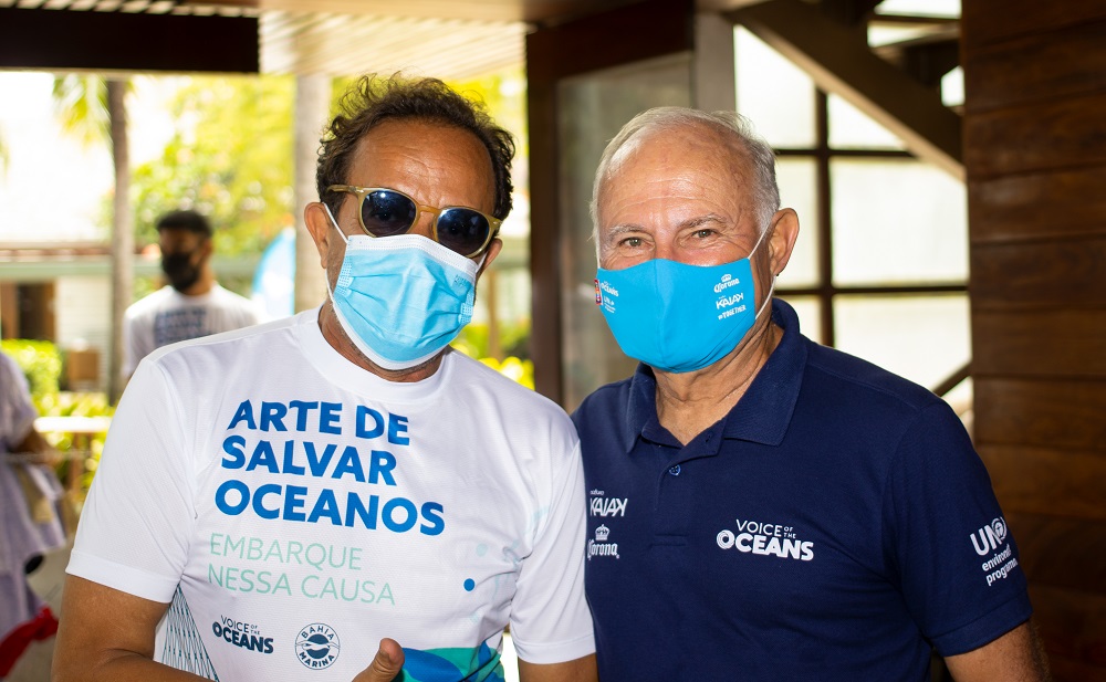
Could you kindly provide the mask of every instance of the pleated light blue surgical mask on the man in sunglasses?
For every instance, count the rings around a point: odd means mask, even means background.
[[[324,204],[324,208],[325,204]],[[326,292],[349,340],[384,369],[432,358],[472,319],[476,263],[419,234],[346,237],[334,291]]]

